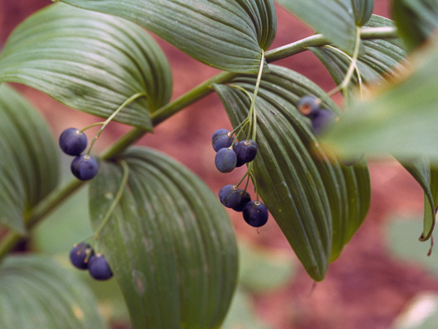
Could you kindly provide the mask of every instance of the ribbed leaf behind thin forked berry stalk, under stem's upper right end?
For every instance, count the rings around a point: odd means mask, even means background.
[[[372,15],[366,27],[394,26],[394,22],[381,16]],[[363,54],[357,60],[357,66],[364,84],[375,83],[385,85],[389,77],[400,76],[399,63],[406,57],[400,39],[363,40]],[[335,84],[344,80],[350,59],[327,47],[309,47],[309,50],[326,66]],[[357,85],[357,74],[352,77],[352,84]]]

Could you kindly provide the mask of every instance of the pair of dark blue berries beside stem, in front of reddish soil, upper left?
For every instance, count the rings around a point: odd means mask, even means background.
[[[87,136],[76,128],[68,128],[60,136],[60,147],[65,154],[74,156],[70,169],[79,180],[91,180],[99,166],[89,154],[81,154],[87,147]]]

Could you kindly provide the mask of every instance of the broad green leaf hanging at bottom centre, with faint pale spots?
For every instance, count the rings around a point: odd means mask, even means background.
[[[216,195],[181,164],[144,148],[129,149],[129,180],[99,234],[125,295],[133,328],[218,328],[237,281],[233,228]],[[102,162],[90,182],[96,229],[125,170]]]

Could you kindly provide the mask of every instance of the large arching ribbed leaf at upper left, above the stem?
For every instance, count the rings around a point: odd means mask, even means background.
[[[55,3],[12,32],[0,53],[0,82],[18,82],[98,117],[143,93],[115,121],[152,130],[149,112],[172,92],[168,62],[153,38],[115,16]]]

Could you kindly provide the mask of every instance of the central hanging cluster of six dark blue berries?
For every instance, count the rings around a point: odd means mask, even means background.
[[[216,130],[211,136],[211,144],[217,152],[215,158],[216,168],[221,173],[229,173],[235,167],[241,167],[252,162],[258,151],[255,141],[247,139],[236,143],[233,134],[226,129]],[[246,175],[250,175],[250,170],[248,169]],[[242,212],[244,220],[250,226],[259,228],[268,221],[268,209],[263,202],[259,202],[258,197],[257,201],[251,201],[246,188],[237,188],[233,184],[228,184],[220,189],[218,196],[220,203],[225,207]]]

